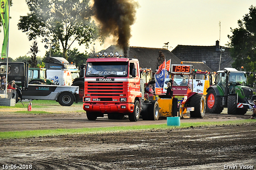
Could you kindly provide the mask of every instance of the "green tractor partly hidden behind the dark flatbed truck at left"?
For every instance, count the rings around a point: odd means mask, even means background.
[[[46,79],[46,68],[29,68],[29,84],[53,85],[53,81]]]

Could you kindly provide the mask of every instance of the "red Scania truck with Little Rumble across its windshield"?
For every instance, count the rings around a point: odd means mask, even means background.
[[[138,59],[121,57],[118,52],[100,52],[98,58],[87,59],[86,63],[83,109],[89,120],[108,114],[108,119],[128,115],[130,121],[138,121],[143,103],[147,112],[142,118],[158,119],[158,102],[144,101],[145,82],[140,78]]]

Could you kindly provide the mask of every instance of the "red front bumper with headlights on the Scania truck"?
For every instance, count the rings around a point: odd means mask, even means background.
[[[83,103],[84,111],[100,113],[124,113],[129,114],[134,111],[133,103]]]

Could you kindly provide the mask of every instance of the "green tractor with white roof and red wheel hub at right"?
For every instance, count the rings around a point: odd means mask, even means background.
[[[227,107],[230,115],[244,115],[248,109],[252,109],[256,96],[247,83],[247,74],[250,75],[234,68],[218,71],[215,85],[206,91],[206,110],[221,113]]]

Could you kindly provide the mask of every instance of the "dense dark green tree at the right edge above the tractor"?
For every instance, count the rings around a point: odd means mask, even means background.
[[[231,57],[234,59],[232,66],[236,69],[244,66],[246,71],[256,70],[256,7],[250,6],[250,12],[238,20],[238,28],[231,29],[232,36],[228,35],[230,42],[227,44]]]

